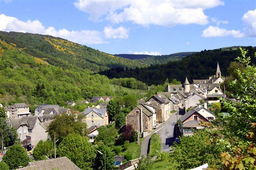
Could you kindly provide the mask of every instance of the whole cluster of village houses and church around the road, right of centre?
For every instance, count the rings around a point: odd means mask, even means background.
[[[223,81],[217,64],[216,74],[209,79],[193,80],[190,84],[186,78],[184,84],[168,85],[166,92],[157,93],[146,102],[139,100],[138,106],[126,115],[126,125],[132,125],[134,129],[138,129],[142,137],[146,137],[160,123],[164,123],[172,111],[183,110],[185,114],[179,119],[180,130],[183,135],[192,135],[192,129],[203,128],[200,125],[201,121],[215,119],[214,113],[208,110],[207,106],[220,102],[218,97],[224,96],[220,88]]]

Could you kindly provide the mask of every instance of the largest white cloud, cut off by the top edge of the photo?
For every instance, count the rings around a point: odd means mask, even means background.
[[[92,21],[112,23],[131,21],[139,25],[208,23],[207,8],[224,5],[221,0],[78,0],[76,8],[89,14]]]

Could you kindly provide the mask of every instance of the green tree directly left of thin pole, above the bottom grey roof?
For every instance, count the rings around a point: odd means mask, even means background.
[[[54,155],[54,143],[53,141],[46,140],[42,141],[40,140],[33,151],[33,157],[35,160],[45,160],[48,158],[51,158]]]

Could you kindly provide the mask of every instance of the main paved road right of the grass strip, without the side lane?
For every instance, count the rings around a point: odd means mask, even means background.
[[[179,115],[179,118],[180,117],[181,115]],[[170,152],[170,146],[172,146],[174,139],[177,137],[176,122],[177,122],[177,114],[173,113],[169,117],[169,119],[163,124],[164,126],[156,132],[161,137],[162,151]]]

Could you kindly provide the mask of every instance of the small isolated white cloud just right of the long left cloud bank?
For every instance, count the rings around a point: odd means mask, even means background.
[[[104,35],[107,39],[113,38],[113,39],[127,39],[129,30],[120,26],[116,29],[109,27],[104,27]]]

